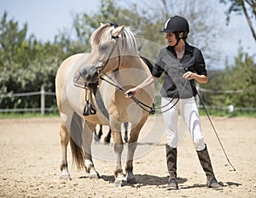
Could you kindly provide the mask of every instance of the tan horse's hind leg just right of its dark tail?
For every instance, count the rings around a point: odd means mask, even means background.
[[[84,122],[83,129],[83,148],[84,148],[84,159],[85,159],[85,170],[89,173],[89,178],[99,178],[99,174],[96,172],[94,167],[92,156],[91,156],[91,142],[93,138],[93,131],[96,125]]]

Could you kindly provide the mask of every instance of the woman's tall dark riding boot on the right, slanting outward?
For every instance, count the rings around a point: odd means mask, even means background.
[[[211,163],[210,156],[209,156],[208,150],[207,150],[207,144],[206,144],[206,148],[204,150],[200,150],[200,151],[196,151],[196,152],[197,152],[197,156],[199,157],[201,167],[203,168],[203,170],[205,171],[205,173],[207,175],[207,186],[209,188],[213,188],[215,190],[221,189],[222,186],[220,184],[218,184],[218,181],[215,178],[215,175],[213,173],[212,163]]]

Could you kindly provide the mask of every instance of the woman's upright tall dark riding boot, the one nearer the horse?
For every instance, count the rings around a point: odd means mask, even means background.
[[[166,161],[169,172],[167,190],[177,190],[177,149],[166,144]]]

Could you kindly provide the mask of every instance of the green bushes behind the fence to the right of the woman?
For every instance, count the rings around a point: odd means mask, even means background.
[[[224,71],[215,71],[210,76],[210,82],[203,88],[223,93],[203,93],[207,105],[239,107],[256,107],[256,64],[254,56],[249,56],[239,49],[235,65],[226,65]],[[225,91],[231,90],[230,93]]]

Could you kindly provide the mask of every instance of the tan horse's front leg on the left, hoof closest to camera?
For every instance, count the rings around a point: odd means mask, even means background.
[[[117,187],[127,184],[125,175],[122,169],[122,152],[124,150],[124,143],[120,131],[112,130],[113,134],[113,151],[115,155],[115,169],[114,169],[114,184]]]

